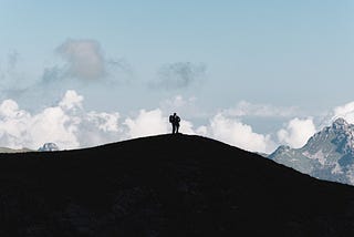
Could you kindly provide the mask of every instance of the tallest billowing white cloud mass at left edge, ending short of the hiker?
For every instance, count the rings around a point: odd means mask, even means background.
[[[56,106],[38,114],[19,109],[12,100],[0,104],[0,146],[37,150],[48,142],[79,148],[117,141],[118,113],[85,112],[83,96],[67,91]]]

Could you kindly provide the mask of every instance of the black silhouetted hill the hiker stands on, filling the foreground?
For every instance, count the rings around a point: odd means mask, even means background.
[[[1,237],[354,234],[354,187],[204,137],[0,156]]]

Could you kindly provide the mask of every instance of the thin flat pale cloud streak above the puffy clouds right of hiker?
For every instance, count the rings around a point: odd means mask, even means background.
[[[236,107],[226,110],[225,114],[231,116],[259,116],[259,117],[290,117],[294,116],[298,109],[294,106],[282,107],[271,104],[253,104],[247,101],[241,101]]]

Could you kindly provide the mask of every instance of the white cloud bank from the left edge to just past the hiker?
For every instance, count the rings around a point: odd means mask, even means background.
[[[118,112],[86,111],[84,97],[69,90],[56,105],[37,114],[21,110],[13,100],[0,104],[0,146],[37,150],[53,142],[62,150],[101,145],[139,136],[165,134],[170,130],[160,109],[142,110],[134,116]],[[183,133],[192,134],[190,122],[183,120]]]

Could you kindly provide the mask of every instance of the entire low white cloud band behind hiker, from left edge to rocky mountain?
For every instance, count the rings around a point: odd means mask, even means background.
[[[165,103],[189,107],[194,99],[176,96]],[[37,150],[53,142],[62,150],[71,150],[169,132],[168,113],[164,107],[140,110],[133,116],[86,111],[84,97],[73,90],[66,91],[55,105],[35,114],[21,110],[13,100],[0,104],[0,146],[11,148]],[[209,136],[251,152],[271,153],[279,143],[301,147],[315,133],[315,125],[312,117],[293,118],[272,136],[254,132],[240,117],[219,112],[197,127],[183,117],[180,132]]]

